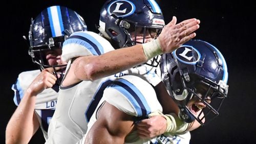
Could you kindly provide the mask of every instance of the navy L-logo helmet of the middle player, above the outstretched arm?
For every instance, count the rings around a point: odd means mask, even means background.
[[[163,14],[154,0],[109,0],[101,8],[98,30],[119,49],[138,43],[137,33],[143,34],[142,43],[146,31],[156,38],[163,27]],[[135,40],[132,32],[135,32]]]

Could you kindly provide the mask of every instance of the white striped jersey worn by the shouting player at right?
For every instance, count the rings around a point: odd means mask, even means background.
[[[88,131],[97,120],[96,112],[104,101],[124,113],[137,117],[135,122],[147,117],[148,114],[154,111],[162,112],[162,107],[157,100],[155,90],[148,82],[136,76],[123,76],[105,88],[103,97],[98,105],[99,107],[93,113],[88,124]],[[179,134],[164,133],[152,139],[141,139],[136,131],[133,131],[125,137],[125,143],[189,143],[189,139],[189,132]],[[80,143],[83,143],[83,141]]]

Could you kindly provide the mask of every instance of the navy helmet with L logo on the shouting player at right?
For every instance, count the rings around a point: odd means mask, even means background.
[[[196,119],[204,125],[219,115],[227,97],[228,71],[223,55],[215,46],[202,40],[189,40],[174,52],[163,54],[160,68],[161,78],[184,122]],[[195,98],[203,103],[203,108],[195,104],[187,107],[189,100]]]

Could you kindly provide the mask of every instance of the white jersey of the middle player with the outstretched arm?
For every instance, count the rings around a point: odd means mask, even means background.
[[[76,32],[63,43],[62,56],[101,55],[114,50],[106,39],[93,32]],[[84,49],[84,50],[82,50]],[[143,65],[96,81],[82,81],[68,87],[60,87],[58,104],[49,126],[46,143],[75,143],[87,132],[87,124],[102,98],[103,90],[116,78],[124,75],[141,76],[153,85],[161,79],[154,67]],[[68,70],[67,70],[68,71]]]

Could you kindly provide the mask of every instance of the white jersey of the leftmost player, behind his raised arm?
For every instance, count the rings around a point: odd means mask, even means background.
[[[22,100],[25,91],[32,81],[40,74],[40,70],[24,71],[20,73],[17,81],[12,85],[14,91],[14,103],[16,106]],[[48,138],[47,131],[50,119],[54,113],[57,103],[59,85],[48,88],[36,95],[35,112],[45,139]]]

